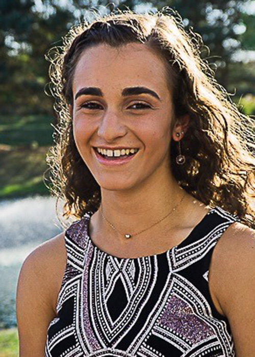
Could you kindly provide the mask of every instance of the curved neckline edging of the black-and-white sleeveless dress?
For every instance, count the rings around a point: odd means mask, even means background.
[[[179,244],[174,245],[172,248],[169,248],[165,251],[163,251],[162,253],[157,253],[157,254],[150,254],[148,256],[142,256],[142,257],[135,257],[135,258],[121,258],[121,257],[116,257],[113,256],[113,254],[107,253],[106,251],[104,251],[103,249],[100,249],[97,247],[97,245],[92,241],[90,234],[89,234],[89,223],[90,223],[90,219],[91,219],[91,214],[86,213],[84,215],[84,219],[85,219],[85,224],[86,224],[86,238],[89,240],[89,243],[93,246],[94,250],[99,252],[100,254],[103,254],[107,257],[111,257],[113,259],[116,259],[118,261],[130,261],[130,260],[141,260],[141,259],[149,259],[149,258],[154,258],[154,257],[160,257],[163,256],[165,254],[170,253],[174,248],[181,248],[183,245],[185,245],[185,243],[187,242],[187,240],[189,240],[189,238],[195,233],[195,231],[197,231],[197,229],[205,222],[205,220],[207,219],[207,217],[217,209],[216,207],[210,208],[209,211],[205,214],[205,216],[203,216],[203,218],[193,227],[192,231],[188,234],[188,236],[183,239]]]

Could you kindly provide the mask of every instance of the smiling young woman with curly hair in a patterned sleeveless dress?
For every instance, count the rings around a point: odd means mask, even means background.
[[[254,357],[252,123],[201,48],[164,8],[52,49],[50,189],[75,220],[22,265],[21,357]]]

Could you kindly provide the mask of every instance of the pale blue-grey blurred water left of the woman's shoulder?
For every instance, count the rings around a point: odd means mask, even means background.
[[[63,231],[56,199],[33,196],[0,201],[0,328],[16,325],[15,295],[25,258]]]

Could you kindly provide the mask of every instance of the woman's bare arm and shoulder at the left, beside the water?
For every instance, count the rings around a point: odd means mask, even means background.
[[[45,356],[47,328],[56,317],[65,262],[62,232],[38,246],[21,267],[16,294],[19,357]]]

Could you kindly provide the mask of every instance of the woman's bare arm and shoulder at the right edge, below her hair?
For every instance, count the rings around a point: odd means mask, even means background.
[[[225,233],[217,254],[217,297],[230,322],[237,357],[254,357],[255,231],[238,222]]]

